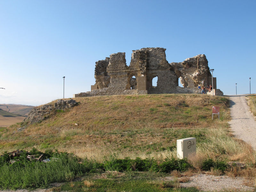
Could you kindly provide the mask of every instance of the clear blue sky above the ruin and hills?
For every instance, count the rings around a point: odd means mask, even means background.
[[[0,0],[0,103],[41,105],[90,91],[95,62],[166,48],[205,54],[225,95],[256,92],[255,0]]]

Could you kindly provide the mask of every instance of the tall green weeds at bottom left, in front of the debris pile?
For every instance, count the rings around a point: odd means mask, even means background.
[[[36,149],[32,151],[38,153]],[[24,152],[15,163],[5,163],[0,167],[0,188],[46,187],[52,182],[73,180],[75,175],[85,171],[84,164],[73,154],[56,152],[53,155],[50,162],[44,163],[28,161]]]

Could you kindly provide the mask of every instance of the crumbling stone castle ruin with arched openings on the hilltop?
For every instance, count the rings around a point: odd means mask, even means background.
[[[212,84],[212,74],[205,55],[196,55],[180,63],[168,63],[165,50],[159,47],[134,50],[130,66],[126,65],[124,52],[113,53],[105,60],[99,60],[95,65],[96,83],[91,86],[91,91],[75,94],[74,97],[201,93],[198,86]],[[157,85],[153,86],[155,77]],[[179,86],[179,79],[183,87]],[[214,95],[223,95],[216,89],[216,77],[213,77],[213,88]]]

